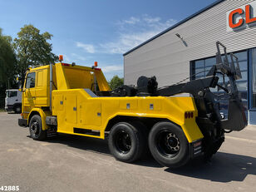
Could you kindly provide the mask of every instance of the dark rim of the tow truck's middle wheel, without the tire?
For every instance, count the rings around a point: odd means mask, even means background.
[[[125,130],[120,130],[116,133],[116,149],[121,154],[127,154],[131,148],[130,135]]]

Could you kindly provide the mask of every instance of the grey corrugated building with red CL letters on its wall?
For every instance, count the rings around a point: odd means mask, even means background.
[[[205,76],[215,64],[216,42],[239,57],[237,81],[249,123],[256,124],[256,1],[219,0],[124,54],[125,84],[156,76],[159,86]],[[205,71],[199,75],[194,74]],[[224,106],[225,107],[225,106]]]

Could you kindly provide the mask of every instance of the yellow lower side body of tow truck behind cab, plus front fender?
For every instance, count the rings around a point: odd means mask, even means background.
[[[28,120],[35,111],[42,117],[42,129],[47,130],[45,119],[51,114],[33,108]],[[193,111],[193,118],[185,119],[185,111]],[[181,127],[190,143],[204,137],[195,122],[197,111],[192,97],[91,97],[83,89],[53,91],[52,116],[57,116],[57,132],[101,139],[105,138],[108,123],[116,116],[171,121]],[[74,128],[98,130],[100,135],[74,133]]]

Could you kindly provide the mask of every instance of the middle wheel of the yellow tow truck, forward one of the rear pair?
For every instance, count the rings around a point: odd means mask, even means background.
[[[119,122],[111,128],[108,145],[116,160],[132,163],[145,154],[147,141],[143,124]]]

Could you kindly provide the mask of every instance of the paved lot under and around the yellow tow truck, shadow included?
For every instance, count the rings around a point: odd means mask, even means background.
[[[256,126],[230,133],[209,163],[176,170],[152,158],[115,160],[106,140],[74,135],[35,141],[17,126],[19,115],[0,113],[0,186],[20,191],[256,191]]]

